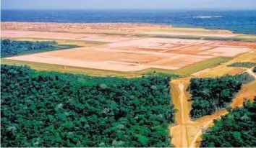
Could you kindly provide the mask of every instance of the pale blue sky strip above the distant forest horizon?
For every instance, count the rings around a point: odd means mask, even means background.
[[[1,0],[1,9],[255,9],[256,0]]]

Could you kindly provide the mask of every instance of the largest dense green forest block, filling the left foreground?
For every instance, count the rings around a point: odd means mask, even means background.
[[[171,147],[170,79],[1,65],[1,146]]]

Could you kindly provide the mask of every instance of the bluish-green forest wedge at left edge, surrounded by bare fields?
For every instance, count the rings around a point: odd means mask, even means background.
[[[29,42],[15,40],[1,40],[1,57],[12,57],[36,52],[64,50],[77,47],[77,45],[56,45],[56,42]]]

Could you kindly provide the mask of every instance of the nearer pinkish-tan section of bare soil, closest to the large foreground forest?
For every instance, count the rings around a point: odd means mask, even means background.
[[[72,50],[8,57],[7,59],[127,72],[146,68],[176,70],[213,57],[80,47]]]

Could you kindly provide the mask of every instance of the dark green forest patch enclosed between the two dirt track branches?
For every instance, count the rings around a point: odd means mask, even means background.
[[[192,78],[190,93],[193,102],[190,116],[197,119],[214,114],[218,109],[226,108],[242,88],[242,84],[252,80],[254,77],[247,73],[220,78]]]

